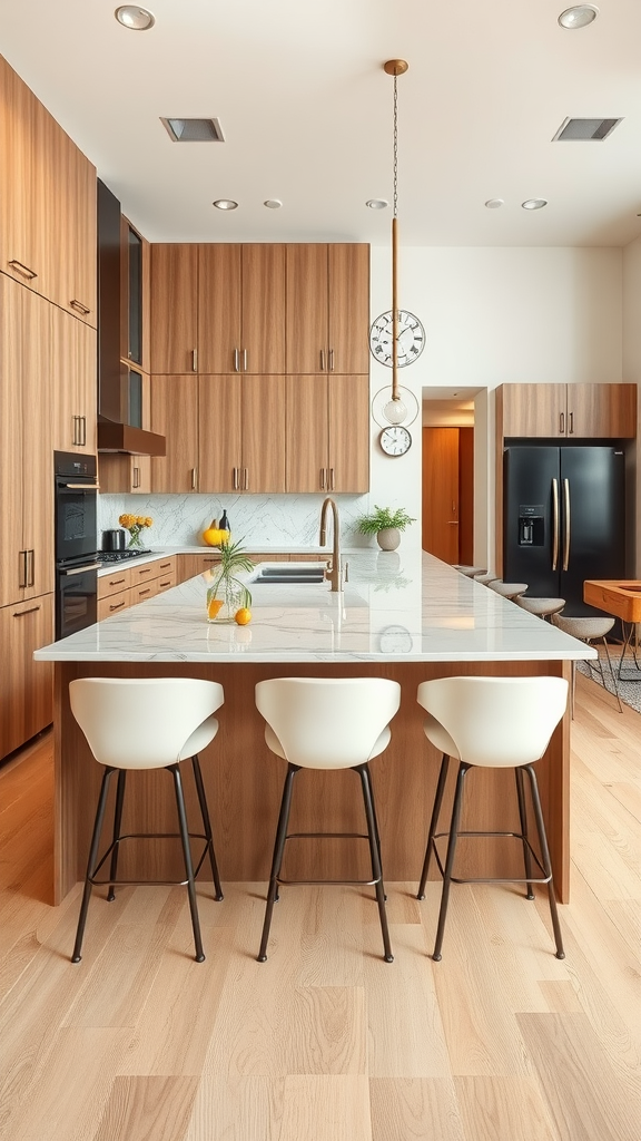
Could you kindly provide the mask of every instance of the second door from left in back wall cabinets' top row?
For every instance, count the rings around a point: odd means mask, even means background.
[[[198,372],[203,374],[242,371],[241,249],[224,243],[198,246]]]

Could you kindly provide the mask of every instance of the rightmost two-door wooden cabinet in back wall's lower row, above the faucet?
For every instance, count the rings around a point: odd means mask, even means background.
[[[370,489],[368,377],[287,377],[286,489]]]

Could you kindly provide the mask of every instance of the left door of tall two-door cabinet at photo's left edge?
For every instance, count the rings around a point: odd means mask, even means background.
[[[25,292],[0,274],[0,606],[22,598],[24,580],[22,340],[16,330],[21,329]]]

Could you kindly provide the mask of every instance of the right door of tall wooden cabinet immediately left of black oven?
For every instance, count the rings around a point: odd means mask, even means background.
[[[51,385],[52,310],[44,298],[23,290],[23,542],[29,559],[29,585],[23,599],[46,594],[55,586],[54,557],[54,388]],[[71,318],[70,318],[71,319]],[[75,324],[75,322],[74,322]],[[19,430],[19,429],[18,429]],[[16,470],[15,478],[21,478]]]

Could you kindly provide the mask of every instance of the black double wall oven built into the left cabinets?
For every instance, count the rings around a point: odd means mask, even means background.
[[[54,452],[56,639],[97,621],[96,456]]]

